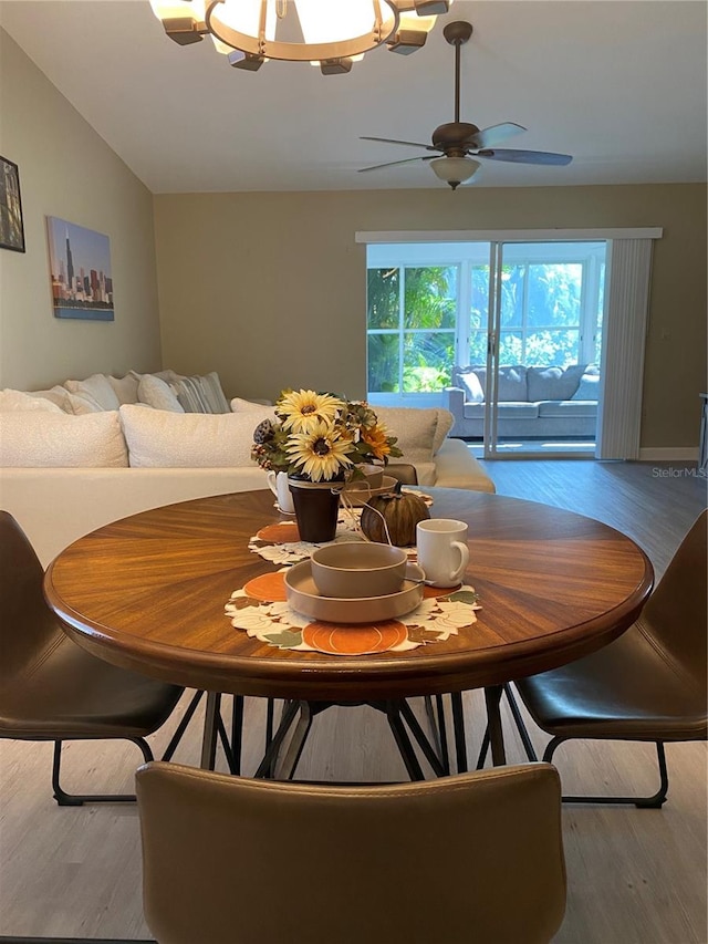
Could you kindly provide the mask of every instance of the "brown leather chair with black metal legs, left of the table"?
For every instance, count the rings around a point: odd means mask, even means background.
[[[145,736],[169,717],[184,689],[116,668],[72,642],[44,601],[42,579],[42,566],[24,532],[8,511],[0,511],[0,737],[54,741],[52,786],[60,806],[134,801],[134,795],[65,792],[60,786],[62,741],[125,738],[152,760]]]

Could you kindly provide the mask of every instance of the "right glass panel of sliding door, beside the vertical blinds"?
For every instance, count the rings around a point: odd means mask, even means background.
[[[470,311],[470,350],[487,346],[485,456],[594,454],[605,242],[496,242],[488,269],[487,331]]]

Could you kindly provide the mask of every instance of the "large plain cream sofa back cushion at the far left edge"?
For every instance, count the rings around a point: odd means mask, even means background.
[[[147,411],[146,411],[147,412]],[[116,411],[0,413],[0,465],[9,468],[127,466]]]

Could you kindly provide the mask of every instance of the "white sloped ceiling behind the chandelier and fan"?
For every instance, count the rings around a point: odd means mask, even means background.
[[[454,117],[528,128],[504,146],[572,154],[568,167],[486,162],[471,186],[706,180],[704,0],[456,0],[424,49],[385,48],[348,75],[304,63],[230,69],[206,40],[180,48],[147,0],[6,0],[0,23],[154,193],[445,187],[423,152]]]

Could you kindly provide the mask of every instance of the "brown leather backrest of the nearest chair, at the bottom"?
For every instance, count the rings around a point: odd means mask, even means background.
[[[374,787],[137,772],[159,944],[528,944],[565,907],[548,764]]]

